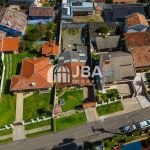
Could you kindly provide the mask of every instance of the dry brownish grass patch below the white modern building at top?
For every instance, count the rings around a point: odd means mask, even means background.
[[[73,22],[104,22],[100,14],[89,15],[89,16],[75,16]]]

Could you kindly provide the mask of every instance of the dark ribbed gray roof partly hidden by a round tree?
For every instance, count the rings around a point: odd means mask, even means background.
[[[100,36],[98,29],[102,25],[108,26],[110,32],[112,31],[115,32],[117,28],[116,22],[90,22],[89,23],[90,38],[96,38]]]

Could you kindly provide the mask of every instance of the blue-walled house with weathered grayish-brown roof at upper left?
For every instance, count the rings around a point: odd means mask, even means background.
[[[9,7],[0,11],[0,30],[9,36],[22,36],[26,29],[27,15]]]

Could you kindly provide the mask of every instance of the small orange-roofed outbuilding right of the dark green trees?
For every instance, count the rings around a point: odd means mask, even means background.
[[[59,53],[59,46],[56,44],[56,41],[49,41],[42,46],[42,55],[46,56],[57,56]]]

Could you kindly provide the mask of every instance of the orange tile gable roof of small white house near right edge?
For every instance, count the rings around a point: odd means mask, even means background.
[[[132,27],[138,24],[149,27],[149,24],[144,15],[139,13],[134,13],[129,16],[126,16],[126,24],[128,27]]]

